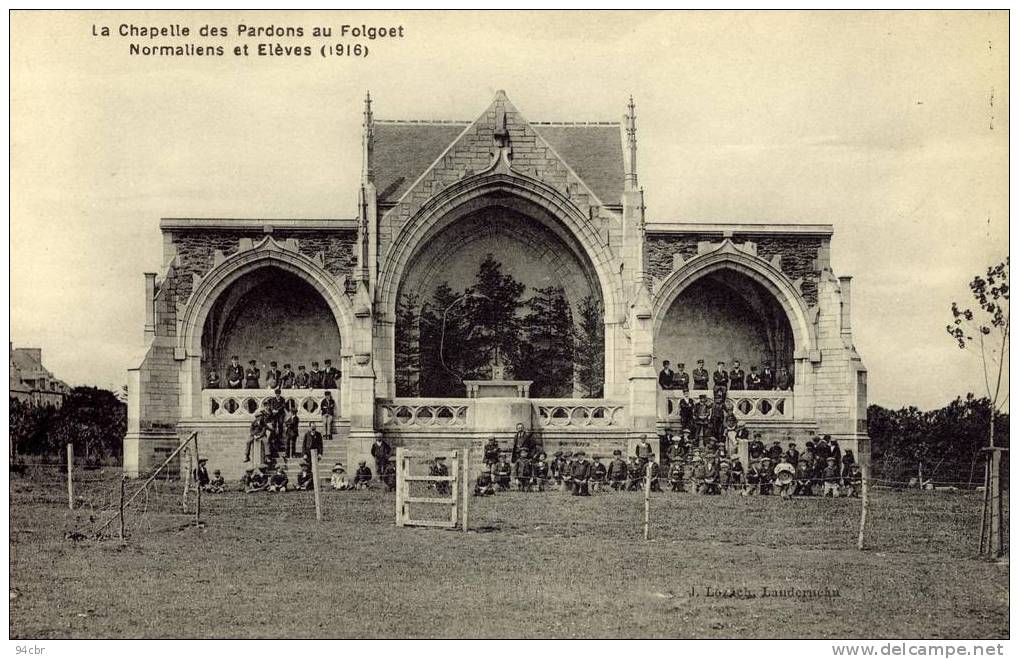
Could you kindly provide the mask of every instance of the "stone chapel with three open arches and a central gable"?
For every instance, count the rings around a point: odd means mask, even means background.
[[[128,476],[192,432],[210,469],[239,476],[252,417],[272,392],[209,388],[208,372],[233,354],[259,368],[332,359],[342,377],[325,471],[372,464],[379,436],[480,451],[518,422],[550,451],[627,449],[678,423],[679,392],[658,387],[662,360],[786,366],[790,390],[732,392],[741,422],[768,441],[830,434],[869,454],[866,370],[850,278],[830,268],[833,227],[645,217],[632,102],[622,122],[532,122],[499,92],[457,122],[377,120],[367,99],[361,168],[353,219],[161,221],[162,267],[145,275],[146,353],[128,372]],[[600,300],[601,398],[397,396],[399,296],[493,250],[571,304]],[[320,421],[323,390],[283,395],[302,434]]]

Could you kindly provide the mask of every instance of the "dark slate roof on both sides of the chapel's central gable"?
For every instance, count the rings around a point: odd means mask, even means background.
[[[376,121],[372,170],[381,204],[394,204],[471,125],[470,121]],[[542,123],[531,127],[607,206],[623,196],[620,124]]]

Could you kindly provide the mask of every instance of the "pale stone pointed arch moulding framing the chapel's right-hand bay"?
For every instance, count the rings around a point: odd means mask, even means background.
[[[808,350],[815,349],[814,326],[809,320],[810,315],[803,296],[797,292],[793,282],[770,263],[740,251],[728,240],[713,252],[694,257],[665,278],[652,300],[653,336],[658,336],[669,308],[680,294],[701,277],[719,270],[742,274],[774,296],[789,319],[797,354],[806,354]]]

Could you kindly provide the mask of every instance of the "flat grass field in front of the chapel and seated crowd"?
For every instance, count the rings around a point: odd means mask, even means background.
[[[205,528],[151,512],[121,545],[65,539],[88,513],[64,487],[11,477],[11,638],[1009,634],[1008,566],[974,556],[973,493],[875,492],[860,552],[856,499],[666,493],[649,543],[640,493],[473,499],[465,535],[396,528],[393,495],[370,491],[325,492],[321,524],[307,492],[206,495]]]

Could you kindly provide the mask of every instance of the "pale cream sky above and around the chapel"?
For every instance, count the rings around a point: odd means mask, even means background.
[[[366,90],[378,118],[471,120],[502,89],[531,120],[619,120],[632,95],[651,222],[833,224],[870,402],[983,391],[945,325],[1008,256],[1005,11],[15,11],[10,38],[10,338],[71,384],[118,388],[141,361],[160,218],[355,217]],[[337,42],[369,54],[319,56]],[[314,54],[232,54],[275,43]]]

